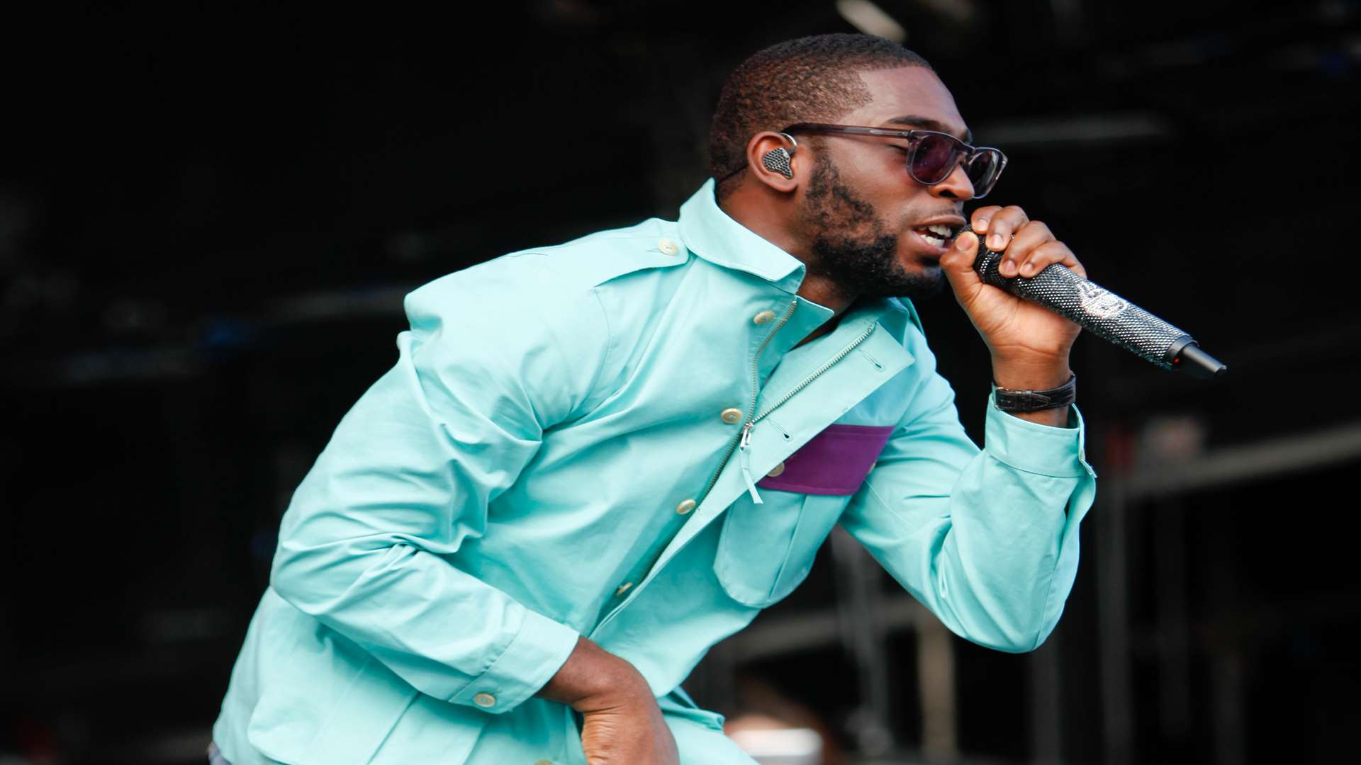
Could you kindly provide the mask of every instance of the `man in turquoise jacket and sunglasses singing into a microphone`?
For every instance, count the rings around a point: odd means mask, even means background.
[[[1006,159],[970,144],[915,53],[793,39],[724,84],[679,221],[407,295],[283,517],[210,755],[750,764],[680,683],[837,524],[954,633],[1040,645],[1096,494],[1079,328],[972,271],[964,204]],[[1004,276],[1085,275],[1019,207],[968,222]],[[992,358],[981,451],[912,305],[946,286]]]

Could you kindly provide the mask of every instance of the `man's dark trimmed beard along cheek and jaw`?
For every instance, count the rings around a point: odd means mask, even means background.
[[[939,265],[911,272],[898,261],[898,235],[890,233],[874,206],[841,182],[825,152],[817,152],[804,215],[814,231],[808,274],[829,279],[842,298],[930,298],[945,291]]]

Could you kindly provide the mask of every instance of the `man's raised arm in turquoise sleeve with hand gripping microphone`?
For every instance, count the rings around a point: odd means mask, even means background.
[[[980,207],[970,227],[1002,252],[1004,276],[1059,263],[1086,270],[1049,227],[1019,207]],[[950,289],[992,355],[1003,387],[1067,380],[1081,327],[973,271],[979,237],[964,231],[940,256]],[[1078,523],[1096,497],[1077,407],[1025,418],[988,399],[984,449],[965,436],[954,392],[920,332],[909,407],[841,525],[947,628],[1002,651],[1030,651],[1053,630],[1078,570]],[[1062,425],[1062,427],[1060,427]]]

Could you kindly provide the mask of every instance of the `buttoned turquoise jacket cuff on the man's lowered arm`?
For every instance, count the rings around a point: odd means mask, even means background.
[[[525,608],[524,622],[510,645],[449,701],[493,715],[509,712],[558,674],[576,649],[578,637],[577,630]]]

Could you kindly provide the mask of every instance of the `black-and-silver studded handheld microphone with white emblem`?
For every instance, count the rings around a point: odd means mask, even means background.
[[[968,225],[964,230],[977,235]],[[1051,263],[1029,278],[1003,276],[998,270],[999,265],[1002,255],[984,248],[983,237],[979,237],[979,255],[973,259],[973,270],[984,283],[1037,302],[1162,369],[1183,370],[1204,380],[1219,377],[1229,369],[1200,350],[1200,346],[1183,329],[1057,263]]]

